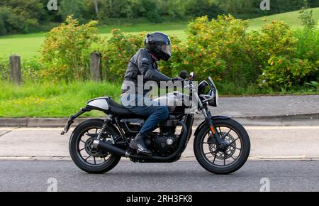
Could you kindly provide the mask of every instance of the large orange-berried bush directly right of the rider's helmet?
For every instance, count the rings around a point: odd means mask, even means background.
[[[211,21],[207,17],[196,18],[187,30],[187,47],[191,48],[191,52],[186,58],[194,53],[194,57],[201,60],[191,67],[198,68],[201,78],[210,74],[216,80],[242,84],[254,80],[257,71],[254,71],[256,66],[246,30],[247,21],[233,16],[218,16]]]

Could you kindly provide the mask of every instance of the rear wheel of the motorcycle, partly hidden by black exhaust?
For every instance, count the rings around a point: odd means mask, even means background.
[[[86,173],[106,173],[121,159],[121,156],[100,151],[92,146],[102,126],[103,120],[89,119],[79,124],[69,139],[69,153],[72,161]],[[108,127],[106,133],[114,134],[116,131]]]

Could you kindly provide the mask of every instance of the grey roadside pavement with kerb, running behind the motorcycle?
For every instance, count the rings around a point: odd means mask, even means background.
[[[221,97],[214,115],[233,116],[245,125],[313,125],[319,126],[319,95]],[[66,116],[67,117],[67,116]],[[74,125],[85,119],[76,119]],[[203,120],[196,115],[195,124]],[[1,119],[0,126],[64,126],[65,119]]]

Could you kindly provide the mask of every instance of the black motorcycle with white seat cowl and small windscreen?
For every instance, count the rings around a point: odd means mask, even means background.
[[[218,90],[211,77],[198,86],[193,84],[194,72],[180,77],[188,82],[191,99],[195,98],[197,112],[205,121],[194,131],[194,154],[198,163],[211,173],[228,174],[241,168],[250,154],[250,137],[245,128],[229,116],[212,116],[208,106],[218,106]],[[197,89],[197,90],[196,90]],[[69,139],[72,161],[87,173],[106,173],[122,157],[137,163],[172,163],[181,158],[193,134],[194,113],[185,113],[194,105],[184,104],[186,94],[172,92],[155,101],[175,103],[169,107],[169,119],[158,125],[147,136],[147,147],[152,156],[145,156],[129,147],[130,141],[144,124],[147,116],[138,116],[110,97],[99,97],[86,102],[86,107],[70,116],[62,135],[67,134],[74,119],[85,112],[99,110],[105,119],[89,119],[79,124]],[[179,98],[181,97],[181,98]],[[194,102],[194,101],[192,101]],[[181,103],[181,104],[177,104]]]

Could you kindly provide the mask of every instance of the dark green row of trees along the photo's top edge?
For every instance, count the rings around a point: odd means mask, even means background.
[[[47,31],[71,15],[80,23],[95,19],[113,25],[135,23],[135,20],[147,23],[188,21],[198,16],[215,18],[228,13],[236,18],[254,18],[296,11],[303,6],[300,0],[272,0],[271,10],[261,11],[261,0],[57,0],[57,11],[48,11],[47,2],[1,0],[0,35]],[[308,0],[308,7],[318,6],[318,0]]]

